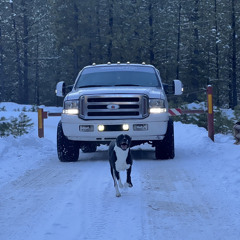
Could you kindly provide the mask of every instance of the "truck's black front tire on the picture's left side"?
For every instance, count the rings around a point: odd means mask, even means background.
[[[57,152],[61,162],[76,162],[79,157],[79,147],[75,141],[68,140],[63,133],[62,122],[57,127]]]

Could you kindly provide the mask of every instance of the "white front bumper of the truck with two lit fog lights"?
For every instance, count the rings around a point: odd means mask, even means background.
[[[84,121],[78,116],[62,114],[61,121],[64,135],[69,140],[109,142],[120,134],[128,134],[133,141],[156,141],[162,140],[166,134],[168,115],[153,115],[139,120]]]

